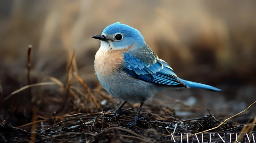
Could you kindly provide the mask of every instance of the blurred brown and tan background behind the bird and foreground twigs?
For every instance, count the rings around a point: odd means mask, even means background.
[[[26,89],[4,100],[28,83],[29,45],[33,47],[31,84],[51,81],[52,77],[65,83],[75,50],[72,72],[92,90],[100,107],[90,108],[92,100],[70,97],[76,106],[63,114],[112,111],[113,106],[105,107],[111,102],[121,104],[101,89],[93,67],[100,42],[91,37],[115,22],[138,29],[148,46],[180,78],[223,90],[168,90],[158,93],[142,110],[158,112],[149,107],[161,106],[175,109],[175,115],[184,119],[206,116],[207,109],[217,117],[233,116],[256,100],[255,7],[256,1],[1,0],[0,121],[9,117],[9,125],[29,123],[35,107],[38,115],[49,117],[66,101],[63,89],[56,85],[32,87],[32,97]],[[70,77],[74,87],[83,91],[78,80],[72,74]],[[139,106],[124,108],[129,107]],[[247,122],[255,117],[255,107],[234,120]]]

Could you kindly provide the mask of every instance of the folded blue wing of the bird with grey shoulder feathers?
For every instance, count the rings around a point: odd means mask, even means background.
[[[146,45],[124,52],[124,71],[134,78],[160,85],[186,87],[172,68]]]

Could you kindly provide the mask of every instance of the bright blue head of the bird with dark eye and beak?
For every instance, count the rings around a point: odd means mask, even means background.
[[[109,49],[126,49],[132,44],[134,48],[140,48],[146,44],[139,30],[120,22],[107,26],[101,35],[92,38],[101,40],[101,46]]]

